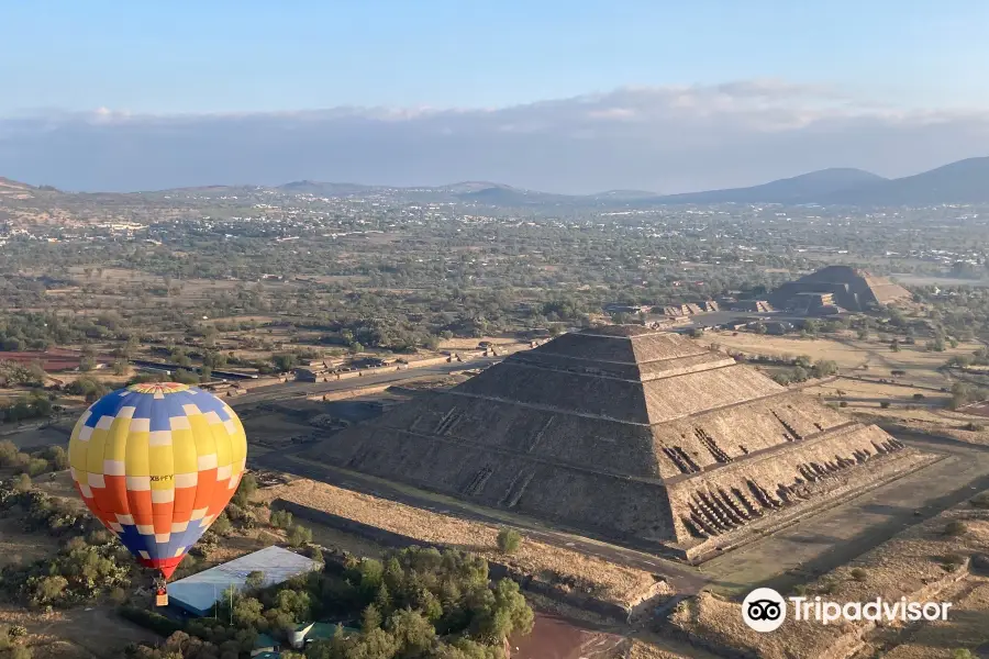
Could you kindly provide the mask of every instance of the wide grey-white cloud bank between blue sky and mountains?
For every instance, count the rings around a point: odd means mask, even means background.
[[[987,110],[904,110],[782,80],[627,87],[497,109],[101,108],[0,119],[0,175],[82,190],[305,178],[677,192],[824,167],[901,176],[987,154]]]

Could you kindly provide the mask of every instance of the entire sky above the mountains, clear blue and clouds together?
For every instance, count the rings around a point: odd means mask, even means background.
[[[989,155],[987,26],[985,0],[8,0],[0,176],[551,192],[905,176]]]

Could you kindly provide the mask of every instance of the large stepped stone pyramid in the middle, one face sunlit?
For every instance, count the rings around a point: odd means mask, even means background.
[[[608,537],[685,546],[785,509],[831,474],[868,480],[864,462],[902,447],[686,337],[615,325],[514,354],[309,455]]]

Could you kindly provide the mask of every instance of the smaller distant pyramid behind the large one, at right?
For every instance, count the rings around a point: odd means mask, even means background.
[[[909,300],[911,297],[910,291],[886,277],[876,277],[848,266],[827,266],[780,286],[769,295],[769,302],[778,309],[786,309],[792,306],[791,302],[800,293],[831,293],[834,303],[848,311],[865,311],[877,304]]]

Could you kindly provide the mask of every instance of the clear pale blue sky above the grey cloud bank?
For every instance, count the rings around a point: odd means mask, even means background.
[[[0,115],[504,107],[781,78],[989,105],[979,0],[5,2]]]

